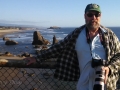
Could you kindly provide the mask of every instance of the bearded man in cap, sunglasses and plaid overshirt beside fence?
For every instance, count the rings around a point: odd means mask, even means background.
[[[56,57],[55,78],[66,81],[78,80],[77,90],[93,90],[96,70],[99,67],[97,64],[100,64],[100,70],[105,72],[102,77],[104,88],[101,90],[115,90],[120,68],[119,40],[110,29],[100,25],[99,5],[88,4],[84,18],[85,25],[76,28],[64,40],[38,55],[37,59],[26,58],[29,60],[28,65],[33,62],[40,63],[41,59]],[[97,60],[100,63],[94,63]]]

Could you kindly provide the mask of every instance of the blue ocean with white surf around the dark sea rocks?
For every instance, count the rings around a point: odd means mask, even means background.
[[[22,47],[29,47],[29,53],[34,53],[32,48],[32,41],[33,41],[33,33],[34,31],[39,31],[41,35],[49,40],[51,43],[53,41],[53,36],[55,35],[57,40],[62,40],[65,36],[67,36],[70,32],[72,32],[76,27],[65,27],[61,29],[38,29],[38,30],[23,30],[22,32],[16,32],[12,34],[7,34],[5,37],[9,37],[11,40],[15,40],[18,42],[18,45],[13,46],[6,46],[5,41],[0,38],[0,52],[12,52],[14,54],[19,54],[20,52],[27,52],[28,49],[22,49]],[[120,27],[108,27],[113,30],[113,32],[118,36],[120,40]],[[8,48],[9,47],[9,48]],[[19,48],[18,48],[19,47]],[[14,50],[15,48],[18,48]],[[9,50],[10,49],[10,50]],[[31,50],[31,51],[30,51]],[[19,51],[19,52],[18,52]]]

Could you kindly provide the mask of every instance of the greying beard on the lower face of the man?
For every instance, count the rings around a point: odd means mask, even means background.
[[[95,29],[99,28],[100,24],[97,21],[95,21],[95,20],[91,20],[89,22],[86,21],[86,26],[90,30],[95,30]]]

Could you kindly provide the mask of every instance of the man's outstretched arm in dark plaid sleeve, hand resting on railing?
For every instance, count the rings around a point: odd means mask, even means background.
[[[45,59],[56,58],[62,52],[62,50],[66,47],[67,43],[69,42],[70,38],[74,34],[75,30],[68,34],[63,40],[59,41],[58,43],[51,46],[49,49],[41,52],[36,57],[29,57],[25,58],[27,60],[27,65],[32,63],[38,62],[41,63]]]

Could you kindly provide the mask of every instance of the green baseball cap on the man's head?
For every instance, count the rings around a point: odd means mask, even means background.
[[[97,4],[88,4],[85,8],[85,13],[88,11],[97,11],[101,13],[100,6]]]

